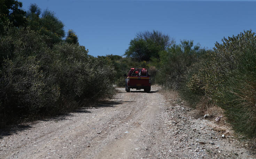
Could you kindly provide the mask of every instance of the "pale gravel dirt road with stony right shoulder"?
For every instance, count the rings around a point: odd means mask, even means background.
[[[256,158],[158,87],[117,90],[108,102],[1,132],[0,158]]]

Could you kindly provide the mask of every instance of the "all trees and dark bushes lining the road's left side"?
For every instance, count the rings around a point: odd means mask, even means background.
[[[88,55],[54,12],[0,1],[0,127],[71,111],[114,94],[108,59]],[[111,73],[110,73],[111,72]]]

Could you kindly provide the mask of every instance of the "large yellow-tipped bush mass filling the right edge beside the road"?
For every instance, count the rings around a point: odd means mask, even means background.
[[[199,98],[207,96],[222,107],[235,130],[256,136],[255,33],[245,31],[222,43],[203,56],[186,86]]]

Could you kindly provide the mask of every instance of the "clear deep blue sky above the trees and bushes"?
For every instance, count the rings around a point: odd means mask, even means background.
[[[42,10],[55,12],[73,29],[79,44],[93,56],[123,55],[136,33],[158,30],[174,38],[191,39],[212,48],[223,37],[243,30],[256,32],[256,1],[89,1],[18,0],[28,10],[36,3]]]

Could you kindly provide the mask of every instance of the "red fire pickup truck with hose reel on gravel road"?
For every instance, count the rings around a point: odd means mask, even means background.
[[[131,68],[129,73],[125,77],[125,90],[130,92],[130,89],[144,89],[145,92],[150,92],[150,75],[148,74],[147,69]]]

